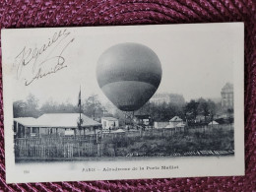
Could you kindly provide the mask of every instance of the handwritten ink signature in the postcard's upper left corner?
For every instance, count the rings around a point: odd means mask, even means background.
[[[37,47],[24,46],[15,57],[14,66],[17,66],[16,77],[21,79],[24,70],[31,71],[32,76],[25,78],[25,86],[31,85],[35,80],[54,74],[66,67],[63,52],[75,40],[70,38],[71,32],[60,30],[54,32],[46,43]]]

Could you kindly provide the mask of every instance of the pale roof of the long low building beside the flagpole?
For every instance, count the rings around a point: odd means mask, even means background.
[[[45,113],[39,116],[37,119],[28,119],[28,121],[18,121],[24,126],[27,127],[63,127],[63,128],[77,128],[79,113]],[[92,127],[92,126],[101,126],[100,123],[89,118],[85,114],[81,114],[83,119],[82,127]],[[20,119],[20,118],[19,118]]]

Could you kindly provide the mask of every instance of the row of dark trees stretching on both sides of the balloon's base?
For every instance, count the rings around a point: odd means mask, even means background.
[[[44,113],[73,113],[79,112],[77,104],[70,102],[58,103],[53,100],[47,100],[41,106],[38,105],[38,99],[30,95],[26,100],[17,100],[13,103],[14,117],[38,117]],[[118,109],[109,113],[106,107],[99,101],[98,96],[92,95],[82,100],[82,112],[87,116],[99,120],[102,116],[112,116],[118,118],[121,122],[125,121],[124,113]],[[189,102],[162,102],[154,103],[148,101],[143,107],[135,111],[135,115],[150,115],[153,121],[168,121],[173,116],[179,116],[189,122],[197,121],[200,115],[203,121],[213,120],[214,116],[222,110],[221,102],[216,103],[211,99],[199,98],[191,99]],[[202,119],[201,119],[202,120]]]

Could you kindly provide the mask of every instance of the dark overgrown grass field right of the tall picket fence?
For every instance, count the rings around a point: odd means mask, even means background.
[[[198,151],[233,151],[233,129],[212,128],[204,132],[187,131],[173,135],[118,137],[105,139],[103,156],[181,156],[198,155]],[[207,153],[206,153],[207,154]],[[208,155],[215,155],[208,153]],[[220,154],[222,155],[222,154]]]

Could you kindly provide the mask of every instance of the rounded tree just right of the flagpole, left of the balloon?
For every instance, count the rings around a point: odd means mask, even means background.
[[[84,113],[94,119],[103,116],[104,107],[96,95],[89,96],[82,106]]]

